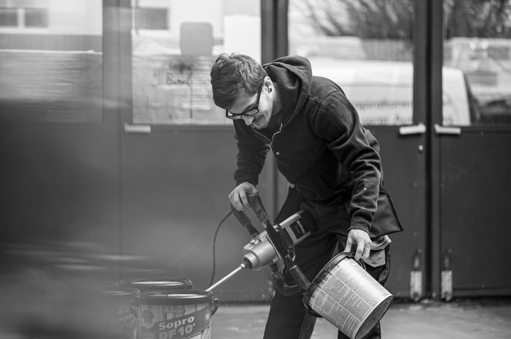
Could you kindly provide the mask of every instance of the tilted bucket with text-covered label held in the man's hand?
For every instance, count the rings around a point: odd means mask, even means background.
[[[342,252],[322,268],[304,294],[309,312],[352,339],[365,336],[386,313],[393,296]]]

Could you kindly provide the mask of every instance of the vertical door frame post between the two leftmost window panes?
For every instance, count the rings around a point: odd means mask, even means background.
[[[103,0],[103,112],[112,127],[112,158],[115,159],[117,207],[119,209],[119,254],[131,254],[129,146],[124,123],[132,110],[130,0]],[[129,75],[129,76],[126,76]],[[128,146],[128,147],[127,147]],[[130,261],[118,267],[119,279],[130,269]]]

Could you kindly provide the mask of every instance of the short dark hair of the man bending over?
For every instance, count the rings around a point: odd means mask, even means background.
[[[256,94],[267,76],[259,62],[236,53],[218,55],[210,75],[213,101],[223,109],[231,107],[243,93]]]

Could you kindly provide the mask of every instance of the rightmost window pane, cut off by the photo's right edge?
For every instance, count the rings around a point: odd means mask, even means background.
[[[444,1],[444,66],[463,77],[458,98],[444,101],[469,107],[467,119],[452,121],[444,105],[444,125],[511,123],[510,18],[509,0]]]

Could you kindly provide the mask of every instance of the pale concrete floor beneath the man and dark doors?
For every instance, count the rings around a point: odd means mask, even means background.
[[[222,305],[211,318],[212,339],[261,339],[269,305]],[[511,339],[511,300],[397,302],[381,320],[383,339]],[[336,339],[318,319],[312,339]]]

